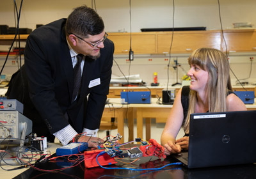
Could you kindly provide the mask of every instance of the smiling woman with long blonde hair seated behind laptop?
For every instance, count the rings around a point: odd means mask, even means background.
[[[191,113],[246,111],[244,103],[232,92],[229,63],[223,52],[196,49],[188,63],[190,86],[183,86],[177,93],[161,136],[166,155],[188,149]],[[175,140],[182,124],[185,136]]]

